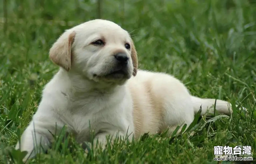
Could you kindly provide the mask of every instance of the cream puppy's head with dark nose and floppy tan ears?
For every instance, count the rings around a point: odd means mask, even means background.
[[[50,49],[51,60],[90,80],[123,83],[136,76],[137,52],[127,31],[114,22],[91,20],[66,30]]]

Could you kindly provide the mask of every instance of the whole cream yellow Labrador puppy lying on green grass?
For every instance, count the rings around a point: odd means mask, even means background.
[[[130,139],[167,128],[171,133],[192,123],[201,105],[202,114],[208,108],[213,112],[215,99],[191,96],[171,75],[137,70],[133,41],[114,22],[96,19],[68,29],[49,54],[60,70],[45,86],[38,110],[17,143],[16,149],[28,152],[24,160],[36,155],[34,148],[40,144],[49,148],[52,134],[64,125],[77,142],[89,141],[91,128],[104,144],[106,136],[117,133],[128,132]],[[216,109],[232,112],[222,100]]]

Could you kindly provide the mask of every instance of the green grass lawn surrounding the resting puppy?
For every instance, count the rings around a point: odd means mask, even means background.
[[[249,145],[256,159],[256,4],[249,0],[0,0],[0,162],[21,163],[13,150],[57,72],[48,58],[67,28],[95,18],[131,32],[139,68],[173,74],[192,95],[247,107],[248,115],[195,120],[194,136],[147,136],[86,154],[56,138],[28,163],[220,163],[214,146]],[[100,4],[100,5],[99,5]],[[7,19],[4,19],[7,18]],[[234,107],[234,105],[233,105]],[[234,109],[237,111],[237,109]],[[68,147],[68,141],[70,147]],[[255,161],[254,161],[255,162]],[[222,162],[222,163],[234,163]],[[243,163],[243,162],[242,162]],[[245,161],[244,161],[245,163]]]

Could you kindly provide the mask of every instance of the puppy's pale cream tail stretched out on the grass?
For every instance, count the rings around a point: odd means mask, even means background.
[[[213,99],[213,98],[198,98],[195,96],[191,96],[193,102],[193,108],[195,114],[200,110],[200,106],[202,106],[202,115],[207,115],[207,113],[214,114],[214,106],[216,101],[216,110],[218,113],[230,115],[233,110],[231,104],[227,101]]]

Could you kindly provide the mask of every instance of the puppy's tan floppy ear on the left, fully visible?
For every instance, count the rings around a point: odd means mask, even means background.
[[[50,49],[50,59],[66,71],[71,68],[71,45],[75,40],[75,31],[65,31]]]

